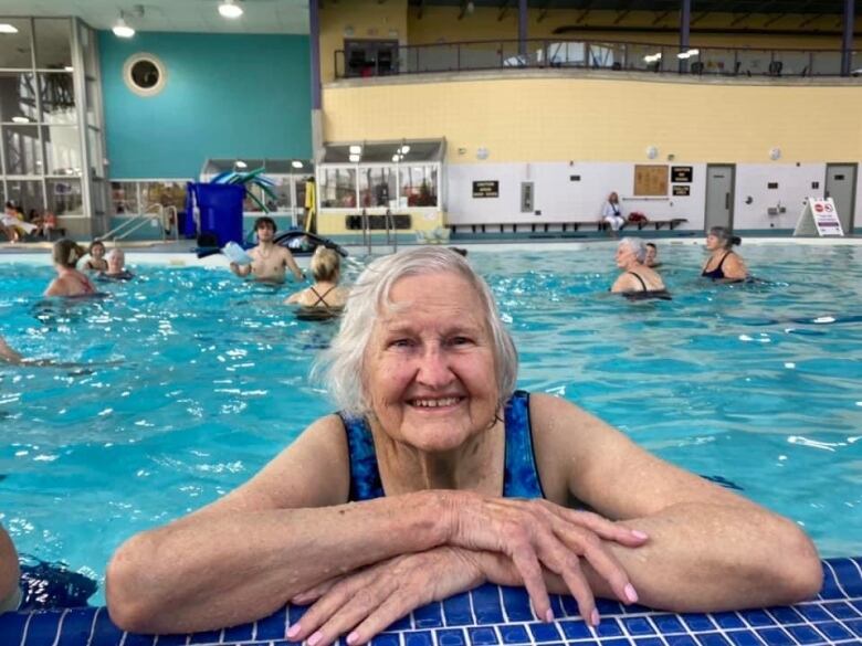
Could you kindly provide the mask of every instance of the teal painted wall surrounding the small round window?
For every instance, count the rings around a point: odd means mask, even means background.
[[[136,53],[167,68],[160,94],[123,81]],[[207,158],[312,157],[306,35],[99,32],[111,178],[197,178]]]

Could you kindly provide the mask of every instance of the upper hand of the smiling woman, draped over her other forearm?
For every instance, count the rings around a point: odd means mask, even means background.
[[[602,540],[637,548],[646,541],[645,533],[597,513],[575,511],[547,500],[487,498],[467,491],[448,495],[453,515],[449,544],[508,557],[527,589],[536,615],[545,621],[553,621],[554,612],[543,568],[563,578],[588,623],[599,623],[596,599],[581,569],[581,558],[608,582],[620,601],[638,601],[628,573]]]

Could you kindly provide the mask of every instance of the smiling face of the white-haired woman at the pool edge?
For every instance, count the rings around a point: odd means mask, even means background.
[[[481,300],[453,273],[401,278],[389,298],[365,354],[374,416],[396,442],[458,448],[493,424],[500,400]]]

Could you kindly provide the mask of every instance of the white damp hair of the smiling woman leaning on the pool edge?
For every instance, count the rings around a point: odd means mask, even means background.
[[[440,273],[461,276],[474,288],[493,342],[500,402],[506,401],[515,391],[517,350],[500,318],[491,288],[458,252],[423,246],[376,260],[350,288],[338,333],[313,370],[341,411],[356,416],[372,412],[364,385],[365,354],[375,321],[385,309],[393,306],[389,295],[395,284],[408,276]]]

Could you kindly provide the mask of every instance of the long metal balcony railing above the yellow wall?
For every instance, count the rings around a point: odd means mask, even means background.
[[[350,73],[345,50],[336,50],[336,78],[395,76],[437,72],[523,68],[592,68],[628,72],[663,72],[721,76],[840,76],[843,50],[789,47],[692,46],[697,54],[679,59],[677,44],[656,44],[609,39],[530,39],[527,54],[521,41],[461,41],[423,45],[397,45],[392,64],[381,68],[375,59]],[[471,57],[472,52],[472,57]],[[661,54],[644,60],[645,54]],[[424,60],[423,60],[424,54]],[[753,55],[763,54],[763,61]],[[850,52],[851,76],[862,75],[862,50]],[[764,63],[764,64],[760,64]],[[779,63],[779,65],[776,65]],[[791,68],[797,66],[798,68]]]

